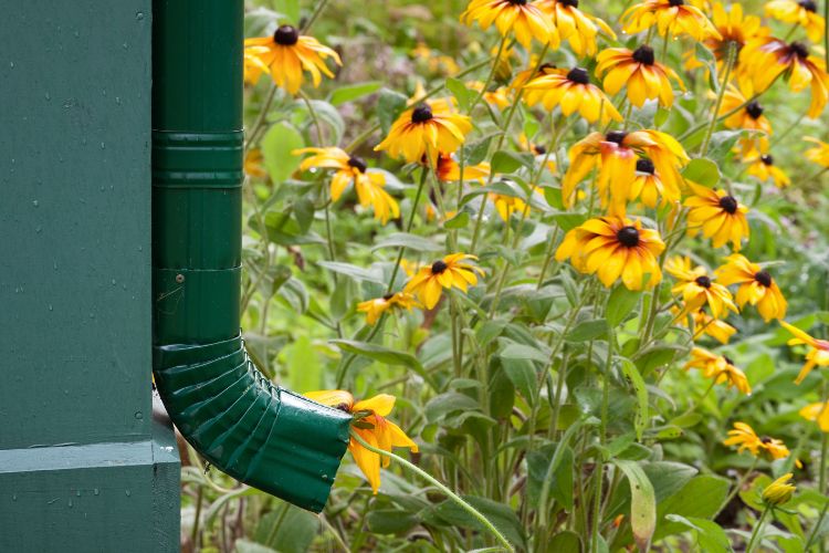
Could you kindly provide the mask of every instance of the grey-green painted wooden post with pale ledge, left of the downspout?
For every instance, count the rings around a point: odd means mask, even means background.
[[[0,551],[178,551],[150,395],[150,0],[0,18]]]

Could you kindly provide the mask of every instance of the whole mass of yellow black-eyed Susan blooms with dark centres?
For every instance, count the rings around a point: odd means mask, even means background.
[[[471,0],[460,21],[483,32],[492,29],[497,33],[493,39],[500,40],[485,60],[491,65],[489,74],[469,75],[455,60],[436,55],[424,43],[413,50],[410,44],[407,51],[430,72],[457,77],[432,90],[426,90],[428,83],[413,81],[417,87],[408,102],[407,95],[393,95],[396,107],[384,104],[381,124],[347,146],[339,145],[339,135],[333,138],[322,133],[316,122],[323,144],[292,150],[297,156],[294,178],[322,190],[326,225],[330,208],[342,209],[349,197],[356,197],[354,210],[372,212],[376,219],[363,221],[372,231],[381,226],[401,231],[393,242],[396,255],[378,263],[381,280],[374,273],[370,279],[359,273],[358,280],[377,286],[361,288],[359,301],[355,299],[350,311],[343,311],[348,316],[360,313],[360,332],[370,336],[369,342],[389,317],[427,320],[439,316],[447,305],[452,325],[489,322],[496,319],[500,304],[506,303],[502,302],[504,286],[516,264],[511,255],[534,255],[536,250],[529,250],[538,246],[547,252],[543,264],[524,275],[537,278],[536,290],[545,284],[548,268],[556,265],[568,300],[589,291],[595,300],[592,313],[600,314],[601,302],[610,293],[606,289],[636,294],[642,305],[637,347],[646,349],[673,328],[688,338],[678,347],[690,349],[684,367],[699,369],[712,388],[723,384],[752,394],[746,373],[731,357],[697,345],[706,337],[727,344],[739,326],[730,324],[728,317],[746,312],[756,311],[765,323],[779,321],[795,336],[789,344],[806,347],[797,384],[815,367],[829,366],[829,342],[784,321],[788,303],[775,280],[774,265],[758,262],[756,251],[748,248],[754,215],[749,206],[756,208],[756,201],[745,194],[743,181],[720,170],[737,161],[744,167],[739,177],[746,174],[755,179],[759,191],[770,182],[775,194],[789,194],[783,189],[796,187],[775,161],[775,118],[764,94],[778,81],[779,87],[785,83],[795,94],[808,88],[809,107],[804,116],[811,119],[820,117],[829,103],[823,59],[806,40],[775,36],[768,24],[795,25],[790,35],[801,32],[816,42],[825,21],[814,3],[772,0],[764,15],[744,13],[738,2],[642,0],[621,14],[620,30],[630,40],[620,45],[611,27],[583,10],[578,0]],[[302,97],[313,112],[303,85],[308,79],[314,87],[323,76],[336,79],[335,65],[343,61],[335,50],[304,32],[282,24],[269,36],[248,39],[244,81],[255,86],[267,74],[272,86],[291,101]],[[668,54],[674,40],[691,46],[682,60],[678,55],[672,61]],[[478,52],[486,54],[487,49]],[[699,125],[686,122],[684,131],[668,132],[665,121],[685,109],[683,97],[689,90],[699,90],[705,77],[711,84],[704,98],[711,103],[709,119]],[[480,124],[476,114],[481,113],[482,119],[489,116],[491,121]],[[522,121],[521,134],[515,132],[517,121]],[[543,128],[546,123],[549,126]],[[712,160],[709,155],[720,126],[734,132],[735,138],[725,146],[723,159]],[[377,135],[380,128],[384,136]],[[565,138],[570,142],[564,143]],[[805,153],[806,159],[829,167],[829,145],[807,139],[814,146]],[[360,149],[364,143],[371,146]],[[258,156],[258,150],[249,150],[245,157],[245,171],[251,176],[266,174]],[[388,168],[398,168],[403,177],[391,178]],[[401,182],[416,177],[414,185]],[[538,225],[527,222],[533,218]],[[418,250],[422,243],[412,242],[418,220],[427,229],[422,234],[434,228],[445,231],[436,240],[437,248]],[[493,227],[500,232],[497,247],[493,242],[484,248],[486,229]],[[459,231],[465,228],[469,236]],[[683,238],[704,246],[711,254],[694,257],[691,249],[680,247]],[[333,264],[337,259],[329,226],[326,239]],[[405,259],[412,250],[440,253],[414,264]],[[663,273],[672,279],[671,285],[663,282]],[[499,278],[484,280],[487,274]],[[574,292],[570,284],[576,279],[585,284]],[[516,288],[527,284],[516,281]],[[476,305],[471,317],[463,307],[469,303]],[[662,334],[654,335],[660,315],[665,315],[667,323]],[[430,324],[431,320],[423,324],[424,332]],[[688,332],[674,325],[684,325]],[[342,331],[339,322],[333,326]],[[568,328],[569,323],[563,333]],[[464,340],[473,334],[471,327],[452,327],[459,378]],[[562,344],[565,341],[562,336]],[[474,346],[476,355],[487,358],[485,349]],[[590,347],[587,355],[592,359]],[[612,365],[611,353],[607,356]],[[417,451],[417,445],[385,418],[392,396],[355,403],[349,393],[333,390],[308,397],[353,414],[355,431],[374,447]],[[801,410],[825,431],[829,431],[828,413],[823,403]],[[781,440],[759,438],[742,421],[734,424],[724,444],[769,460],[790,456]],[[356,441],[349,448],[376,493],[380,467],[388,459]],[[777,488],[766,498],[775,504],[789,493],[783,484]]]

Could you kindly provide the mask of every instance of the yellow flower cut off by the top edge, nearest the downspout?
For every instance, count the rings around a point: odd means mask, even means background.
[[[461,13],[461,22],[469,25],[473,21],[484,30],[495,23],[502,36],[512,33],[524,48],[529,48],[533,39],[552,48],[560,43],[549,15],[527,0],[472,0]]]

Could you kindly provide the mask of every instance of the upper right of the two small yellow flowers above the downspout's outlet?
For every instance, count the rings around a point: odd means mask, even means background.
[[[479,274],[483,276],[483,270],[468,263],[469,259],[478,258],[468,253],[451,253],[431,265],[421,267],[406,283],[405,291],[418,296],[426,309],[433,309],[444,288],[454,286],[466,292],[470,285],[478,284]]]

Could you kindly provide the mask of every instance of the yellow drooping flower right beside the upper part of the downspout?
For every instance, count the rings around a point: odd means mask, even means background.
[[[245,39],[244,46],[266,48],[264,53],[250,53],[267,66],[273,82],[290,94],[300,92],[305,71],[311,73],[314,86],[319,86],[322,75],[333,77],[334,73],[325,64],[326,59],[330,58],[337,65],[343,64],[334,50],[322,45],[313,36],[301,35],[292,25],[281,25],[272,36]]]

